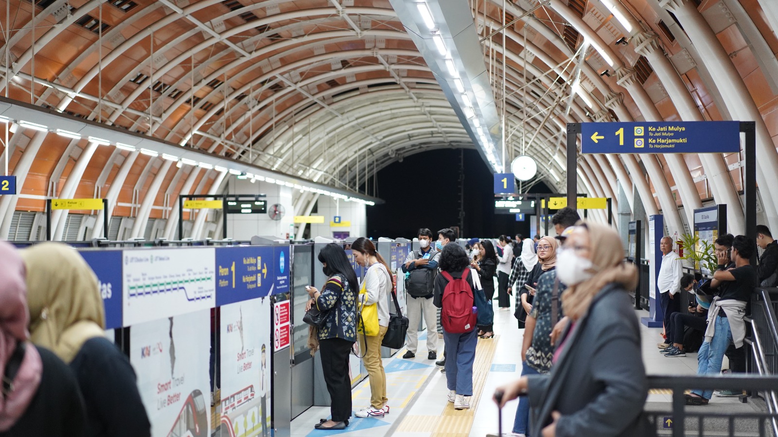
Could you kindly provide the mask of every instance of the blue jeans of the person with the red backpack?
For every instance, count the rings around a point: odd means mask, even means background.
[[[471,330],[464,334],[450,334],[443,330],[446,344],[446,386],[463,396],[473,395],[473,362],[478,333]],[[451,356],[448,357],[448,353]]]

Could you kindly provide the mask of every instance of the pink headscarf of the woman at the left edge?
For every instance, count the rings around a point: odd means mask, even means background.
[[[22,258],[16,248],[0,241],[0,375],[5,375],[16,344],[27,341],[30,332],[27,323],[26,274]],[[32,343],[27,343],[19,372],[13,379],[13,391],[0,396],[0,432],[9,430],[22,417],[37,393],[43,363]]]

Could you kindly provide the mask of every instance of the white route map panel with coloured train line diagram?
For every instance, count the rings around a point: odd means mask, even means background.
[[[216,306],[215,253],[212,247],[124,250],[124,326]]]

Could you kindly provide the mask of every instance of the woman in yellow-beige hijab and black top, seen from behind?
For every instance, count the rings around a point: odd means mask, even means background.
[[[86,437],[151,435],[135,371],[105,337],[105,314],[92,269],[61,243],[20,251],[27,268],[33,343],[68,363],[86,403]]]

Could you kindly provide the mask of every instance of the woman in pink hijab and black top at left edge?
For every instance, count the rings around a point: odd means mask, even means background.
[[[80,437],[86,417],[73,373],[57,355],[30,343],[24,263],[5,242],[0,259],[0,436]]]

